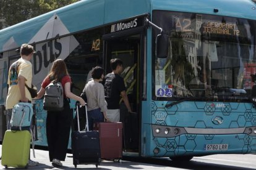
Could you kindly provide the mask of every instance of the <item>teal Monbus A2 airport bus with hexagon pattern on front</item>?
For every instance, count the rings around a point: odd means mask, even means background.
[[[0,30],[0,102],[19,47],[32,44],[40,89],[55,59],[79,95],[90,71],[124,62],[123,154],[191,160],[256,152],[256,4],[252,0],[83,0]],[[46,111],[35,100],[38,141]],[[70,102],[75,110],[75,101]],[[2,114],[1,114],[2,115]]]

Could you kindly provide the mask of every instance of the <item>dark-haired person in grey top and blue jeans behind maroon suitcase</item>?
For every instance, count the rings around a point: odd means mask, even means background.
[[[109,121],[106,116],[107,103],[103,84],[100,81],[104,78],[104,70],[101,67],[95,67],[92,71],[92,78],[85,86],[87,96],[88,110],[88,127],[93,130],[93,124],[98,122]],[[102,112],[101,112],[102,111]]]

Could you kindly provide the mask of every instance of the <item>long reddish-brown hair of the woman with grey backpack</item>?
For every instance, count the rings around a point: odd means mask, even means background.
[[[51,70],[49,71],[49,79],[51,79],[51,81],[61,81],[65,75],[69,75],[67,72],[66,63],[62,59],[55,60]]]

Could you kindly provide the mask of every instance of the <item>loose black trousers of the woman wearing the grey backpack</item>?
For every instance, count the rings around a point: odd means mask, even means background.
[[[49,160],[65,161],[72,121],[72,110],[69,101],[64,99],[64,110],[48,111],[46,118],[46,136]]]

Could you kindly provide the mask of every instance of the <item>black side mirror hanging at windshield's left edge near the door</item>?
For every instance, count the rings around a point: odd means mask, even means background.
[[[156,57],[166,58],[168,56],[169,36],[159,34],[156,36]]]

